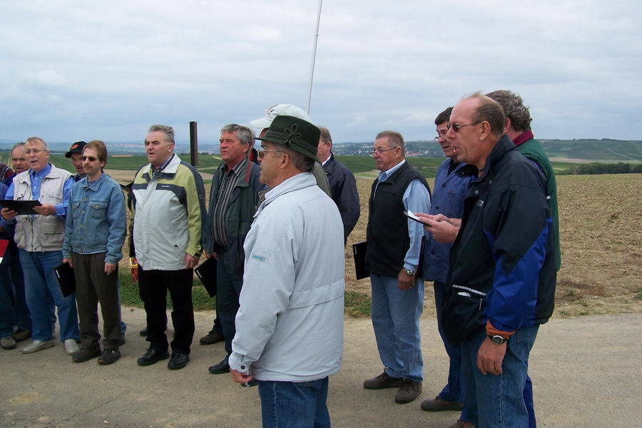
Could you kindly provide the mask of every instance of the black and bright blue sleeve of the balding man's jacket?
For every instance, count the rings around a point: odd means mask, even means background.
[[[511,332],[535,317],[551,218],[541,188],[514,185],[486,202],[484,235],[495,260],[486,318],[497,330]]]

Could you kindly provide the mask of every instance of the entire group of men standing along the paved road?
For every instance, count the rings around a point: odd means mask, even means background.
[[[554,174],[530,121],[509,91],[476,93],[440,113],[435,139],[447,159],[433,193],[406,160],[400,133],[382,131],[374,140],[379,176],[365,261],[384,371],[363,386],[398,388],[398,403],[421,394],[419,317],[424,280],[433,281],[450,369],[447,385],[422,408],[461,410],[457,427],[535,427],[528,355],[552,313],[560,259]],[[258,383],[264,427],[327,427],[327,377],[342,360],[344,246],[360,216],[355,178],[334,158],[330,132],[302,109],[278,104],[250,124],[261,129],[258,138],[235,123],[221,129],[223,162],[208,210],[200,175],[173,153],[173,129],[149,129],[149,163],[131,185],[131,246],[150,343],[138,365],[188,363],[193,269],[204,254],[217,264],[217,320],[200,342],[225,340],[223,360],[209,371]],[[261,150],[250,159],[255,140]],[[81,152],[78,180],[48,163],[43,140],[29,138],[29,170],[16,171],[6,192],[6,199],[42,203],[34,215],[1,210],[4,226],[15,228],[33,320],[18,325],[34,337],[23,352],[54,346],[55,305],[73,360],[111,364],[123,342],[117,269],[125,201],[103,173],[104,143],[73,150]],[[63,297],[54,277],[63,261],[74,267],[75,297]]]

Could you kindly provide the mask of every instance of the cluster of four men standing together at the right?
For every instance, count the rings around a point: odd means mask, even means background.
[[[407,172],[402,138],[384,131],[374,142],[381,173],[366,262],[384,372],[364,387],[398,388],[398,403],[419,396],[423,279],[433,281],[450,367],[446,386],[421,407],[461,411],[454,427],[536,427],[528,357],[553,311],[560,255],[554,172],[530,123],[510,91],[475,93],[440,113],[435,140],[447,159],[432,201],[422,178]]]

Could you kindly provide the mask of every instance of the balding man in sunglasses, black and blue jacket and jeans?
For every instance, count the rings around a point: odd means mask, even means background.
[[[544,177],[504,135],[499,103],[475,93],[450,115],[447,139],[473,165],[451,255],[442,322],[462,351],[461,427],[529,425],[528,359],[553,312],[553,220]],[[420,218],[424,216],[419,215]],[[448,218],[426,218],[427,228]]]

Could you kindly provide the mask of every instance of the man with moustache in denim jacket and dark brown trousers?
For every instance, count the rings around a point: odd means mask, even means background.
[[[98,364],[118,361],[121,352],[121,311],[118,299],[118,260],[126,235],[125,198],[121,186],[103,173],[105,143],[83,145],[79,156],[84,177],[69,193],[71,207],[65,224],[63,262],[73,267],[81,328],[81,351],[73,362],[98,357]],[[98,302],[103,315],[103,350],[98,332]]]

